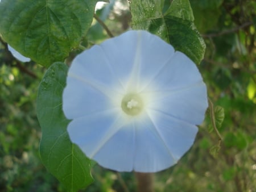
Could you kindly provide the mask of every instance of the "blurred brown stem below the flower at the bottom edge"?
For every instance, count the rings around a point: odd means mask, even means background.
[[[137,179],[138,192],[154,192],[154,175],[153,173],[135,172]]]

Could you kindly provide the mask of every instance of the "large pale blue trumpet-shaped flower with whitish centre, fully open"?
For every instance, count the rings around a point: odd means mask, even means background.
[[[147,31],[128,31],[82,52],[63,92],[71,141],[117,171],[174,165],[193,144],[207,107],[196,65]]]

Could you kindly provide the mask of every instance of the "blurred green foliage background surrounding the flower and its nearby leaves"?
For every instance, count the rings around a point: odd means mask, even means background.
[[[172,40],[170,36],[166,36],[166,31],[159,32],[162,24],[167,26],[168,32],[172,32],[173,27],[180,26],[180,23],[176,26],[168,25],[170,20],[172,22],[179,20],[179,14],[172,14],[174,8],[170,9],[171,1],[161,1],[162,11],[147,10],[147,7],[144,7],[146,9],[144,12],[151,18],[144,25],[139,24],[143,18],[134,18],[139,7],[135,3],[139,1],[133,0],[133,2],[131,9],[125,0],[118,1],[122,6],[110,2],[97,10],[96,14],[114,35],[119,35],[129,27],[133,27],[154,32],[171,43],[176,40],[175,37]],[[191,38],[195,38],[195,41],[199,39],[196,47],[204,47],[201,37],[198,36],[201,34],[205,42],[204,59],[198,67],[207,84],[208,95],[214,105],[216,126],[223,140],[220,144],[208,110],[191,150],[177,165],[154,175],[155,191],[254,192],[256,191],[256,2],[254,0],[191,0],[190,4],[193,15],[185,15],[183,24],[191,26],[191,30],[196,31],[188,41]],[[104,28],[94,19],[82,40],[82,45],[88,48],[107,38],[109,36]],[[76,37],[78,42],[77,39],[79,37]],[[67,186],[60,183],[44,168],[38,153],[42,130],[36,117],[36,95],[46,68],[34,61],[26,64],[19,62],[10,54],[2,37],[0,41],[0,191],[66,191]],[[17,39],[10,40],[13,44],[16,41]],[[77,44],[68,47],[64,50],[65,54],[67,55],[70,50],[72,52],[66,62],[71,61],[81,52],[77,49]],[[195,51],[193,44],[188,45],[187,48],[189,53]],[[64,57],[58,56],[58,58]],[[195,57],[194,61],[200,61],[202,58],[203,53],[201,58]],[[39,60],[34,58],[34,60],[40,63],[42,58]],[[45,66],[51,61],[47,60]],[[218,106],[223,107],[224,111]],[[133,173],[115,173],[94,165],[92,176],[94,182],[80,191],[136,190]]]

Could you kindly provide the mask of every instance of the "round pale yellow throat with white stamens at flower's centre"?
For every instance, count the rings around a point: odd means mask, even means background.
[[[127,115],[135,116],[141,113],[144,105],[140,95],[128,93],[123,97],[121,107]]]

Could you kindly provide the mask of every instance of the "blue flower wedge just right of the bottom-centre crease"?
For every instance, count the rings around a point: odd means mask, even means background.
[[[137,120],[135,128],[135,171],[158,172],[176,163],[149,116]]]

